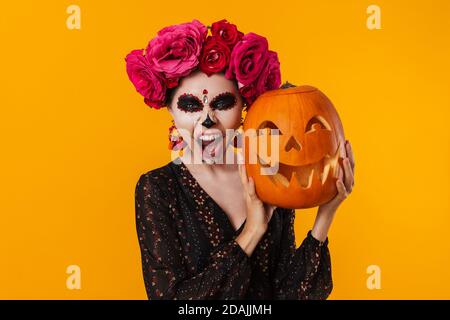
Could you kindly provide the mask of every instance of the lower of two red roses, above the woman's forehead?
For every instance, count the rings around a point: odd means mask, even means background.
[[[230,48],[220,38],[208,36],[200,55],[200,70],[208,76],[220,72],[230,61]]]

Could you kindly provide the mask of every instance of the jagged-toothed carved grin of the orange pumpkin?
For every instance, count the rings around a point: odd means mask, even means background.
[[[273,165],[270,164],[268,159],[263,159],[257,156],[258,162],[263,168],[270,168]],[[291,166],[278,163],[278,172],[271,175],[266,175],[275,185],[282,185],[286,188],[289,187],[293,179],[296,179],[299,185],[303,189],[308,189],[311,187],[313,179],[319,179],[322,185],[327,180],[330,173],[333,177],[337,175],[339,159],[339,146],[333,155],[326,154],[322,159],[315,163],[301,165],[301,166]]]

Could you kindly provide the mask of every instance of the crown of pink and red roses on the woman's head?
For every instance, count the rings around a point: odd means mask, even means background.
[[[161,29],[145,49],[131,51],[125,61],[130,81],[152,108],[166,106],[168,89],[198,69],[208,77],[223,72],[228,80],[237,80],[248,108],[281,84],[278,55],[268,47],[266,38],[244,35],[225,19],[207,27],[194,19]]]

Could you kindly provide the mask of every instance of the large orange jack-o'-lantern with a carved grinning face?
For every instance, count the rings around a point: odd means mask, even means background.
[[[286,83],[267,91],[249,109],[244,132],[248,129],[256,130],[258,146],[250,148],[245,136],[245,165],[263,202],[282,208],[310,208],[337,194],[339,163],[346,155],[344,130],[336,109],[320,90]],[[278,170],[263,175],[262,168],[273,166],[270,142],[267,151],[261,152],[262,135],[267,135],[267,141],[274,137],[270,129],[279,130]],[[251,150],[257,161],[249,161]]]

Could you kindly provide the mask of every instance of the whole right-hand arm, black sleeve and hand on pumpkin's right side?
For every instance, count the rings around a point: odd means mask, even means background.
[[[299,248],[295,248],[295,211],[286,211],[280,256],[275,273],[275,297],[278,299],[326,299],[332,289],[331,258],[328,231],[339,205],[354,187],[355,158],[350,142],[345,142],[346,157],[342,159],[336,181],[338,194],[319,206],[314,226]]]

